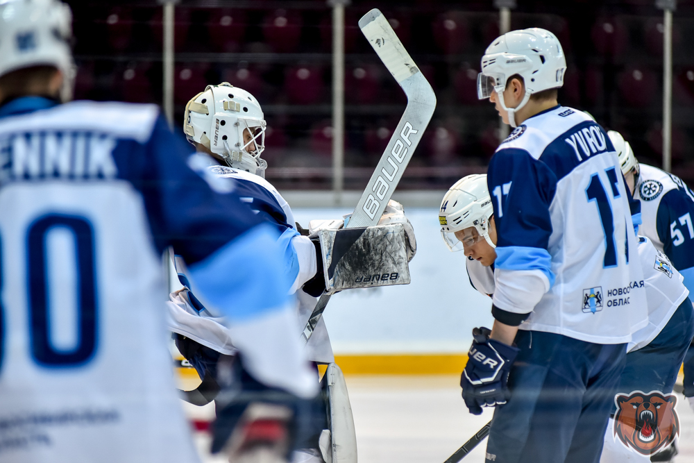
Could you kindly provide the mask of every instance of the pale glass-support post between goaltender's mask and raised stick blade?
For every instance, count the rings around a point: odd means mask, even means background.
[[[332,6],[332,192],[336,205],[344,190],[345,6],[350,0],[328,0]]]

